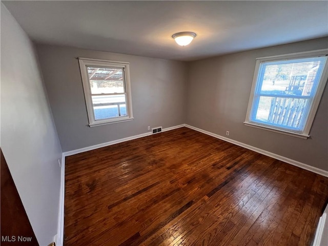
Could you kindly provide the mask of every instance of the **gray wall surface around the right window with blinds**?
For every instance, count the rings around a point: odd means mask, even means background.
[[[255,58],[327,48],[327,38],[189,63],[186,123],[328,171],[328,93],[325,87],[309,139],[243,125]]]

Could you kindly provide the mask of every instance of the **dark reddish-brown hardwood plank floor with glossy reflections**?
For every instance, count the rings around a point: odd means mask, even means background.
[[[180,128],[66,157],[65,246],[310,245],[328,178]]]

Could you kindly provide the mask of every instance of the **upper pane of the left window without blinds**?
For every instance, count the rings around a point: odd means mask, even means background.
[[[92,94],[124,93],[122,68],[87,67]]]

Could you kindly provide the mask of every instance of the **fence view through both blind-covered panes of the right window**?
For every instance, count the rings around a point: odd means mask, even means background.
[[[308,117],[325,58],[263,62],[254,95],[253,121],[301,130]]]

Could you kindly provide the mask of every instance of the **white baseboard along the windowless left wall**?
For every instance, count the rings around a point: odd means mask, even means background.
[[[59,210],[57,234],[54,237],[56,246],[64,245],[64,206],[65,206],[65,155],[61,155],[60,167],[60,191],[59,191]]]

